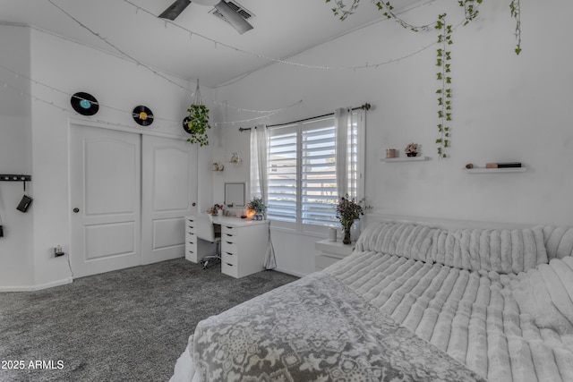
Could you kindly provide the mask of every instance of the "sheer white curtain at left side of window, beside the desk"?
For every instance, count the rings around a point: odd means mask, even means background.
[[[268,206],[267,185],[269,183],[267,173],[267,126],[259,124],[251,131],[251,196],[260,194],[265,206]],[[277,267],[275,250],[270,240],[269,225],[269,245],[264,262],[265,269],[274,269]]]

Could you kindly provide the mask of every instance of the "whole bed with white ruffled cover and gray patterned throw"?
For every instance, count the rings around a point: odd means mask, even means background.
[[[372,223],[351,256],[201,321],[173,381],[573,380],[573,229]]]

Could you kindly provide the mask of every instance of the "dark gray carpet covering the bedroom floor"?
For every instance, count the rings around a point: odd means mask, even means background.
[[[201,319],[296,278],[235,279],[175,259],[0,293],[0,380],[167,381]]]

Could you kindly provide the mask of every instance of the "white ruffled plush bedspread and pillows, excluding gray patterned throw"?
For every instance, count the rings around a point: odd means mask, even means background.
[[[564,227],[380,224],[324,272],[490,381],[573,381],[572,250]]]

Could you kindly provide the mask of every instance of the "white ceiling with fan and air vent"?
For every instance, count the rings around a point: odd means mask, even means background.
[[[419,1],[401,0],[400,9]],[[173,23],[158,19],[172,2],[0,0],[0,22],[47,30],[215,88],[382,19],[368,0],[346,21],[324,0],[238,0],[254,14],[254,29],[239,35],[201,4],[190,4]]]

